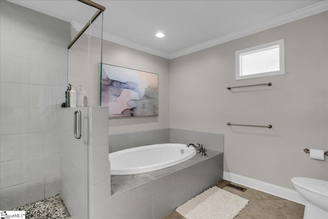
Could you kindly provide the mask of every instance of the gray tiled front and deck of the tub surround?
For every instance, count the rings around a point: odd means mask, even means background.
[[[161,218],[223,177],[223,153],[208,150],[179,165],[111,176],[112,196],[95,203],[95,218]],[[94,191],[95,193],[101,192]]]

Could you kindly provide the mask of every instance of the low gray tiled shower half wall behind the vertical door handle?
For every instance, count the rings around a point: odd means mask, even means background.
[[[89,107],[79,107],[81,112],[81,138],[74,136],[74,111],[77,108],[59,109],[60,124],[60,189],[59,194],[73,218],[88,215],[88,145]]]

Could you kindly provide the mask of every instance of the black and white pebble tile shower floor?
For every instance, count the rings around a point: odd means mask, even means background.
[[[41,201],[15,208],[13,211],[25,211],[26,218],[29,219],[72,218],[59,194]]]

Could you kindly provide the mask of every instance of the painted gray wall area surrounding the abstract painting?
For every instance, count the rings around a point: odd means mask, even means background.
[[[103,63],[158,74],[158,116],[112,118],[109,134],[169,128],[170,61],[108,41],[103,42]]]

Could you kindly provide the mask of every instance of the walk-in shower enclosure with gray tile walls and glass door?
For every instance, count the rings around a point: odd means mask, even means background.
[[[87,0],[29,2],[0,1],[0,210],[59,194],[73,218],[89,218],[90,116],[99,106],[105,8]],[[43,11],[42,4],[50,5]],[[75,13],[71,23],[53,17],[48,9],[56,4],[83,15]],[[60,108],[68,83],[87,99],[86,107]],[[80,139],[73,129],[77,110]]]

